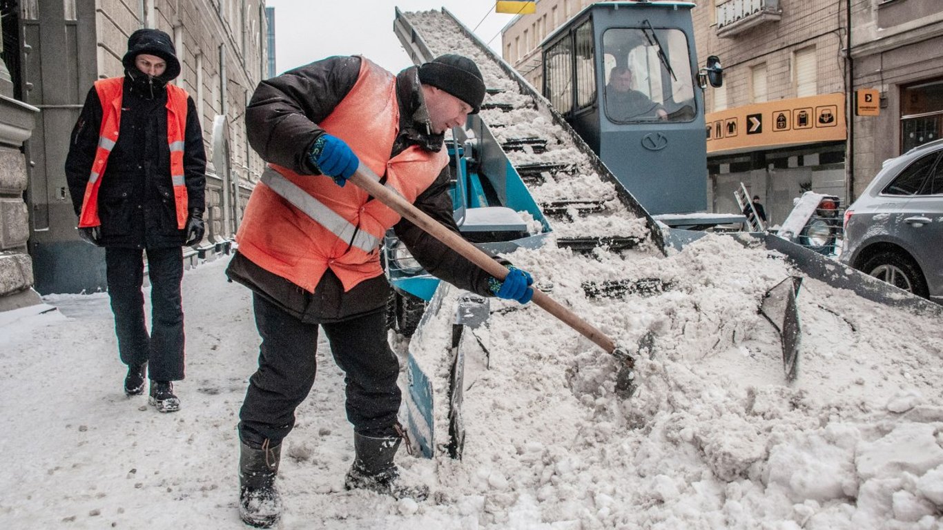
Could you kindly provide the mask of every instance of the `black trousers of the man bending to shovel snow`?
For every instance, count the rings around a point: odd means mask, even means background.
[[[295,408],[314,384],[318,324],[303,323],[257,294],[253,305],[262,344],[258,370],[249,379],[240,410],[240,439],[256,447],[268,439],[275,446],[288,436]],[[400,368],[387,344],[384,309],[321,326],[344,372],[347,420],[354,431],[375,438],[396,436]]]

